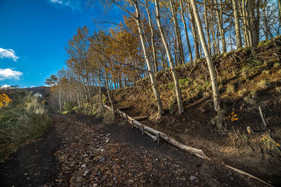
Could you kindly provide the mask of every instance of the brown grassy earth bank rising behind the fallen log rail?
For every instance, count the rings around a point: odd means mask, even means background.
[[[204,59],[195,66],[176,68],[181,78],[185,112],[176,113],[171,73],[157,74],[157,87],[165,115],[157,106],[148,78],[131,88],[112,92],[115,106],[129,107],[129,116],[150,115],[143,124],[171,134],[185,144],[202,148],[211,158],[231,163],[266,179],[281,179],[281,38],[261,42],[254,49],[242,48],[213,57],[221,106],[216,113],[211,102],[209,72]],[[259,106],[266,117],[263,124]],[[224,130],[218,131],[216,123]]]

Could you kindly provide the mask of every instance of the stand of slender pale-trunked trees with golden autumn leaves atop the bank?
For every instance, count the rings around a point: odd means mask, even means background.
[[[255,48],[280,33],[280,1],[105,1],[128,15],[109,30],[77,29],[65,49],[67,68],[51,76],[53,95],[61,110],[66,103],[82,108],[93,95],[137,85],[149,77],[159,115],[164,114],[157,88],[159,71],[169,69],[178,113],[183,113],[175,67],[207,60],[214,109],[221,109],[218,80],[211,57]],[[102,104],[101,104],[102,105]]]

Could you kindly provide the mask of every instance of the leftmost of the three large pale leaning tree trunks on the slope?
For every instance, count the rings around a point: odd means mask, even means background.
[[[151,84],[152,84],[152,90],[153,90],[153,93],[154,93],[155,98],[156,98],[158,113],[159,113],[159,115],[163,115],[164,109],[163,109],[163,105],[162,105],[162,100],[161,100],[161,98],[159,96],[159,92],[157,90],[155,74],[153,73],[151,63],[148,60],[148,52],[147,52],[146,47],[145,47],[145,41],[144,41],[145,36],[143,36],[144,34],[143,34],[143,29],[141,27],[141,18],[140,18],[140,13],[139,13],[137,1],[134,1],[134,6],[136,8],[136,23],[137,23],[137,26],[138,26],[138,33],[140,35],[141,45],[143,47],[143,53],[145,55],[145,62],[146,62],[146,65],[148,66],[148,74],[150,76],[150,81],[151,81]]]

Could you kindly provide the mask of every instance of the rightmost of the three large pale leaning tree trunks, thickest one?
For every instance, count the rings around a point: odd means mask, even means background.
[[[214,64],[211,61],[211,55],[210,55],[209,50],[207,48],[206,40],[204,38],[202,22],[200,20],[200,16],[199,16],[199,13],[198,13],[198,10],[197,10],[197,6],[196,6],[194,0],[190,0],[190,1],[191,1],[191,4],[192,4],[193,13],[195,15],[195,20],[196,20],[198,32],[199,32],[199,35],[200,35],[202,48],[204,50],[204,54],[205,54],[205,57],[206,57],[206,60],[207,60],[209,74],[210,74],[210,77],[211,77],[211,87],[213,89],[213,97],[214,97],[214,109],[216,111],[219,111],[220,110],[220,104],[219,104],[219,95],[218,95],[218,84],[216,83],[216,72],[214,70]]]

